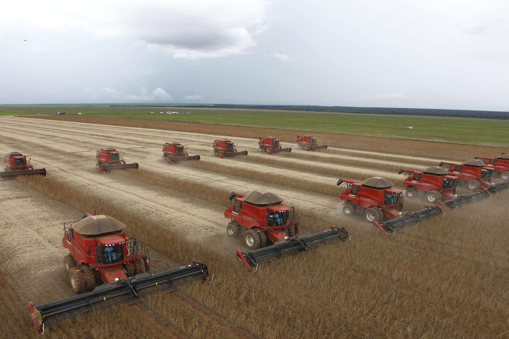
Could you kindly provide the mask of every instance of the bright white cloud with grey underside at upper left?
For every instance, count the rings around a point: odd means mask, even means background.
[[[0,31],[12,36],[42,29],[120,37],[174,58],[222,57],[256,45],[253,36],[268,26],[268,6],[266,0],[9,2],[0,12]]]

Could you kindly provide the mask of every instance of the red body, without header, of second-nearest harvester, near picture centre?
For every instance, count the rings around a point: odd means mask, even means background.
[[[267,245],[267,239],[278,240],[299,233],[299,221],[295,209],[287,207],[276,194],[253,191],[248,195],[232,192],[230,204],[224,210],[224,218],[231,219],[227,234],[236,237],[239,233],[249,249]]]

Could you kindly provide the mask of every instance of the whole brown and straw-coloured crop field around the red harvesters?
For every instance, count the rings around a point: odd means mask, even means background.
[[[195,258],[215,279],[65,321],[49,328],[48,337],[509,336],[507,192],[383,235],[342,215],[335,185],[339,177],[381,175],[401,187],[399,168],[505,149],[323,134],[329,149],[305,152],[294,147],[297,132],[278,130],[283,146],[294,150],[275,157],[258,151],[258,137],[275,134],[266,129],[60,118],[0,117],[0,152],[26,153],[48,171],[48,177],[1,182],[0,337],[37,336],[26,302],[72,295],[61,223],[94,209],[121,220],[150,246],[154,272]],[[216,137],[233,139],[249,155],[213,157]],[[202,160],[162,161],[162,144],[173,140]],[[125,151],[140,170],[99,173],[94,157],[101,146]],[[236,249],[245,250],[241,241],[225,235],[224,201],[231,191],[257,189],[296,206],[302,231],[334,224],[351,240],[246,271],[234,259]],[[412,210],[425,204],[406,200]]]

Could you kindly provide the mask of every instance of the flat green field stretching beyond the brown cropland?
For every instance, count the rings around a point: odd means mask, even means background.
[[[0,114],[55,114],[58,111],[67,114],[82,112],[86,116],[270,127],[502,147],[509,145],[509,120],[193,107],[0,106]],[[160,114],[161,111],[190,111],[192,114]],[[408,126],[412,126],[413,130],[408,130]]]

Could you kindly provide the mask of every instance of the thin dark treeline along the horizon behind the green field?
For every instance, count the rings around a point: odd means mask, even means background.
[[[274,109],[304,112],[343,112],[343,113],[370,113],[370,114],[397,114],[397,115],[432,115],[432,116],[459,116],[488,119],[507,119],[509,112],[499,111],[471,111],[460,109],[430,109],[430,108],[386,108],[386,107],[349,107],[349,106],[309,106],[309,105],[110,105],[110,107],[195,107],[195,108],[244,108],[244,109]]]

